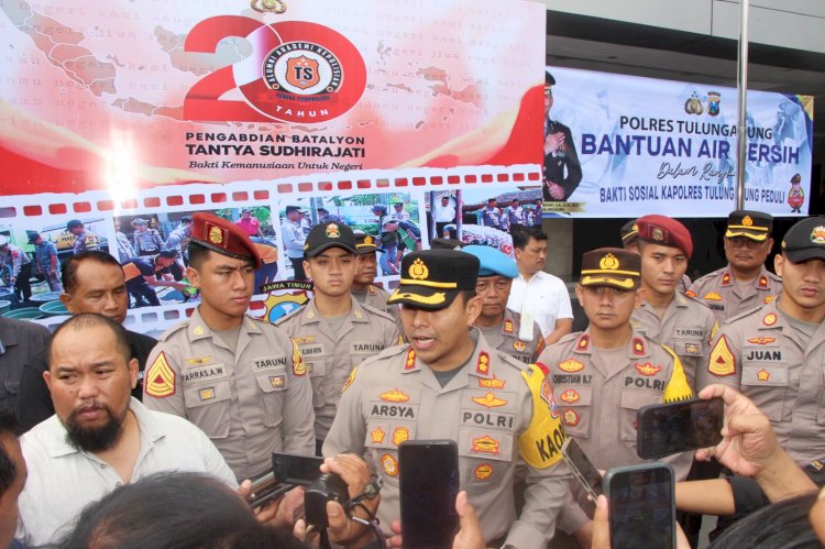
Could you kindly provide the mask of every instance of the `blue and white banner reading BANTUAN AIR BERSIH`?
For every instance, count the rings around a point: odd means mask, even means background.
[[[544,217],[725,217],[733,209],[736,89],[547,70],[556,84],[546,99]],[[746,208],[805,216],[813,98],[749,91],[747,111]]]

